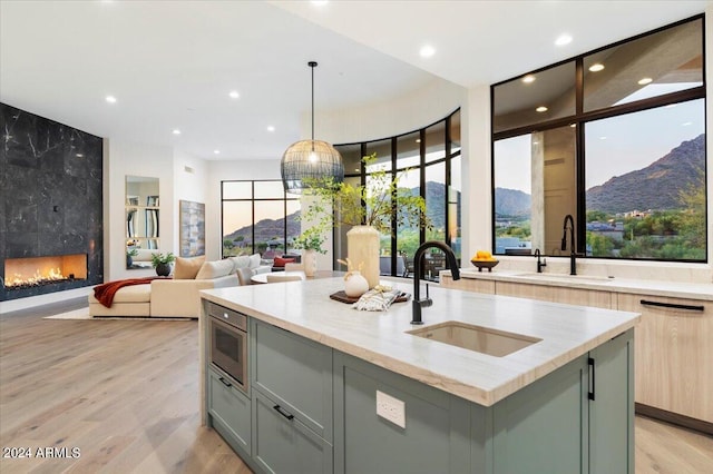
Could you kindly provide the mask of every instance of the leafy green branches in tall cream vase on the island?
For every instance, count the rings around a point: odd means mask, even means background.
[[[362,158],[365,167],[375,161],[377,154]],[[307,182],[314,198],[303,209],[302,219],[315,221],[318,227],[352,227],[346,233],[349,259],[363,265],[362,275],[370,288],[379,284],[379,235],[391,234],[392,219],[397,228],[432,227],[426,215],[426,200],[411,189],[399,187],[401,176],[379,168],[369,172],[367,186],[331,179]]]

